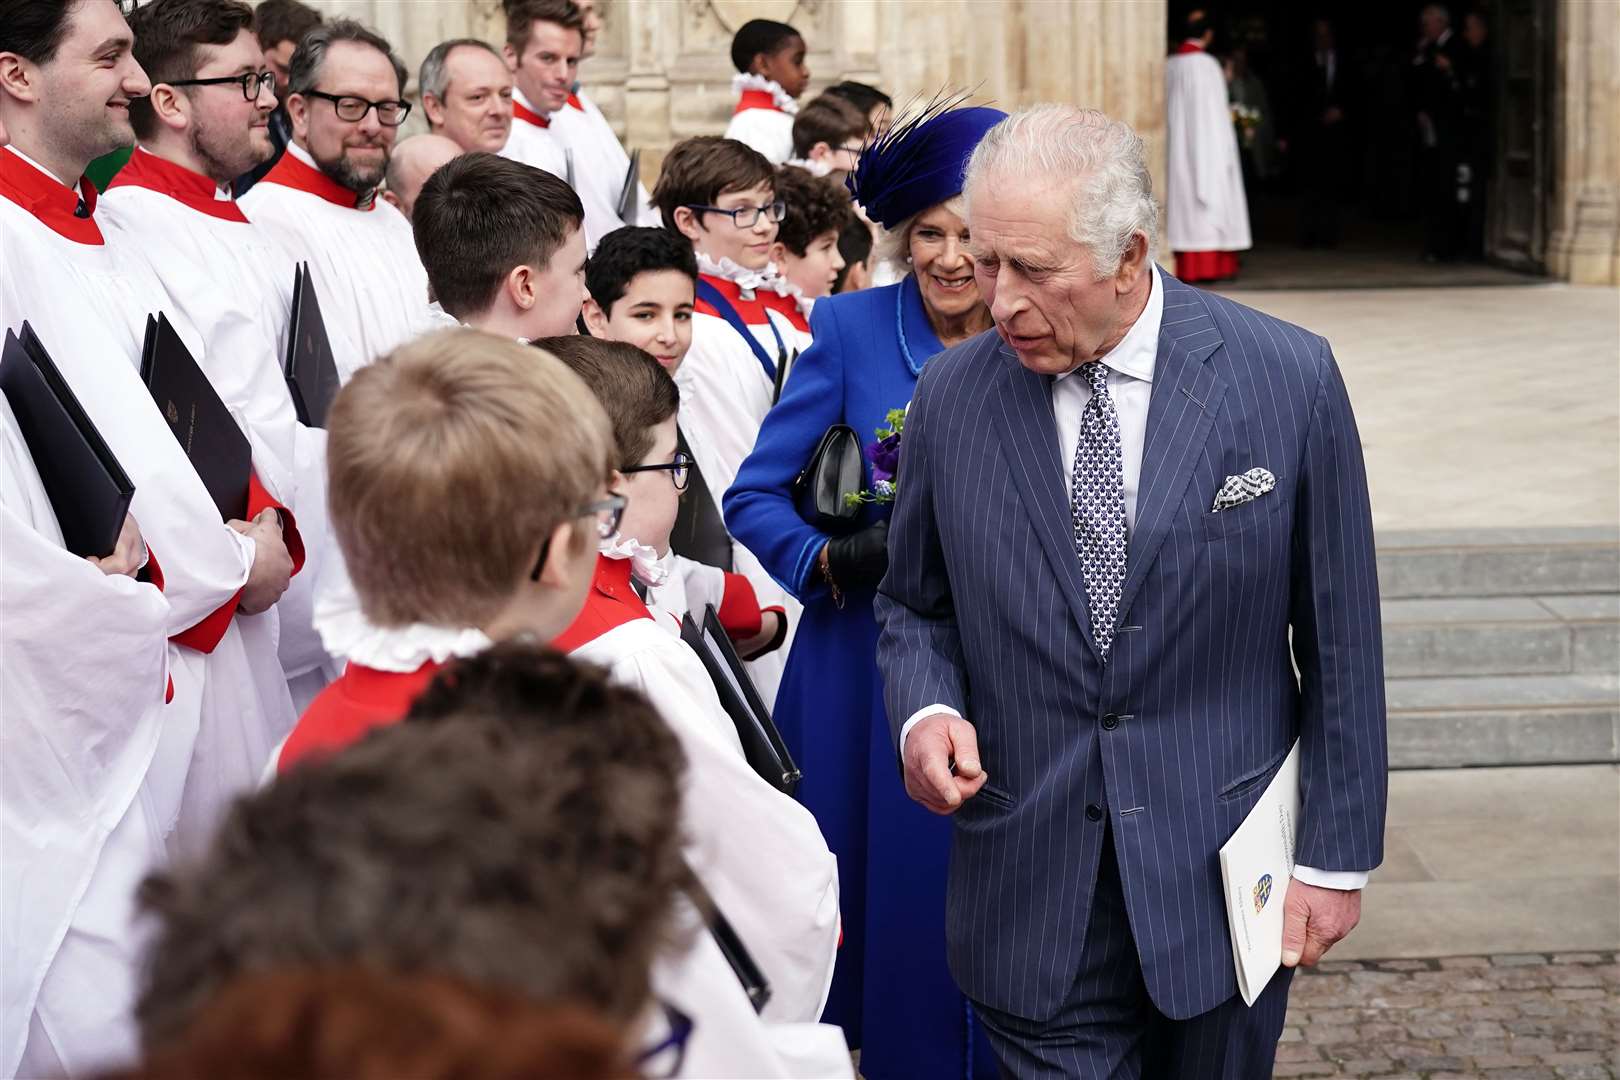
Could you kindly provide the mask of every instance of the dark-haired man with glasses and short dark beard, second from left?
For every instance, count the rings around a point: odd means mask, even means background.
[[[282,377],[293,259],[230,198],[232,178],[272,152],[272,73],[251,19],[238,0],[154,0],[130,16],[152,92],[130,104],[138,146],[100,209],[146,256],[170,316],[202,337],[198,363],[262,450],[266,486],[298,515],[309,563],[279,606],[279,653],[301,708],[335,675],[313,627],[313,581],[332,549],[326,436],[298,423]],[[353,351],[334,343],[337,356]]]

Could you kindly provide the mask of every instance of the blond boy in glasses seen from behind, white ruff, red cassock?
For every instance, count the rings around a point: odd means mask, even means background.
[[[428,334],[360,371],[327,434],[360,609],[330,627],[348,667],[298,719],[280,772],[394,724],[454,657],[556,636],[625,502],[608,492],[612,426],[590,389],[481,330]]]

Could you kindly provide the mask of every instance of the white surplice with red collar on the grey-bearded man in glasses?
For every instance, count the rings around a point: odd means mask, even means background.
[[[347,342],[337,355],[343,382],[428,327],[428,272],[410,222],[384,199],[366,209],[355,201],[296,142],[241,196],[248,220],[309,264],[334,351]]]

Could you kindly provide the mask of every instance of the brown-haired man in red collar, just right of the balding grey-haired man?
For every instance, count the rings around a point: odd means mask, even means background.
[[[505,11],[504,55],[517,87],[512,134],[501,157],[567,180],[573,168],[551,118],[573,92],[585,53],[585,18],[569,0],[509,0]]]

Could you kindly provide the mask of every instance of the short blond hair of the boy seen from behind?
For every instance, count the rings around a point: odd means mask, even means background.
[[[361,368],[327,429],[332,531],[382,627],[484,625],[612,468],[612,426],[585,382],[481,330]]]

